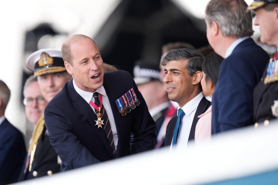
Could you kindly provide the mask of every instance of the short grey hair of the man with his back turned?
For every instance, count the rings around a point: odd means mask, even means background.
[[[224,36],[252,36],[252,15],[244,0],[211,0],[205,10],[208,25],[216,22]]]

